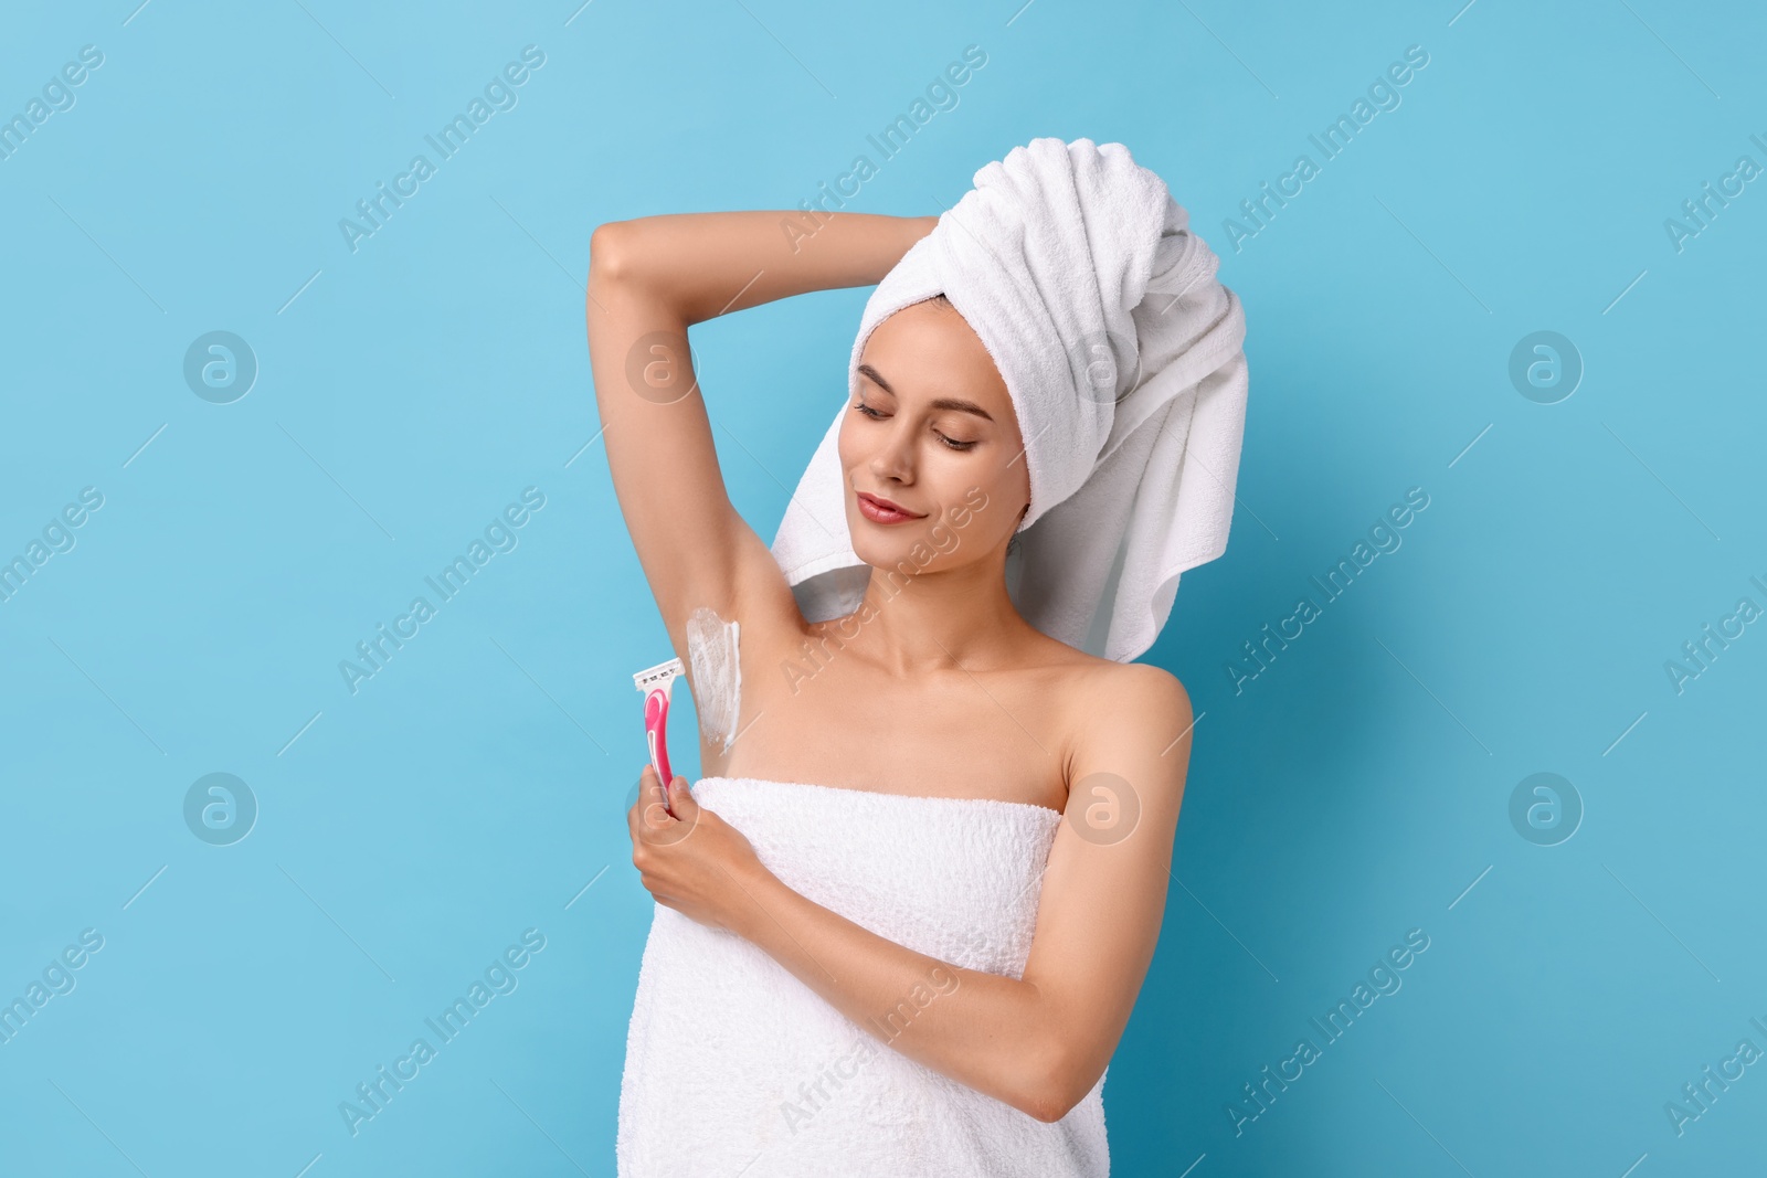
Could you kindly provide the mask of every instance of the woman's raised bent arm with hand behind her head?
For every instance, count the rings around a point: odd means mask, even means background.
[[[937,217],[668,214],[590,237],[588,353],[613,491],[670,639],[696,606],[795,608],[737,514],[687,355],[687,327],[786,295],[878,283]],[[793,228],[795,226],[795,228]]]

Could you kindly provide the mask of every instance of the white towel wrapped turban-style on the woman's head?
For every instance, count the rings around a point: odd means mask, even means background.
[[[944,293],[993,357],[1025,440],[1030,510],[1007,563],[1020,613],[1127,662],[1154,645],[1179,574],[1226,549],[1246,424],[1246,316],[1166,184],[1120,143],[1032,140],[914,244],[866,302],[866,337]],[[823,434],[772,553],[799,608],[859,608],[846,480]]]

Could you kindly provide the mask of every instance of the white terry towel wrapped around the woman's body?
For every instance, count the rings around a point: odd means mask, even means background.
[[[1062,816],[703,777],[790,888],[878,936],[1023,977]],[[949,993],[949,987],[945,987]],[[903,994],[898,1028],[942,1001]],[[760,948],[656,908],[626,1037],[620,1178],[1103,1178],[1104,1077],[1043,1123],[896,1053]]]

